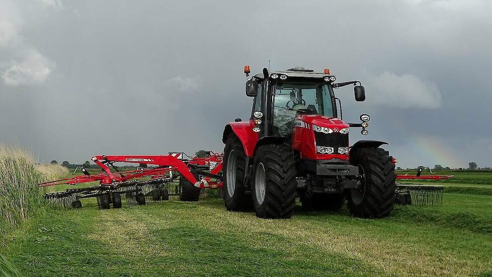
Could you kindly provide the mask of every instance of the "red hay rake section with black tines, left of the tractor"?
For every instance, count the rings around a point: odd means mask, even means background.
[[[95,156],[92,161],[101,167],[101,173],[91,175],[87,169],[81,168],[84,175],[39,185],[47,187],[99,182],[95,186],[66,189],[46,193],[44,196],[51,205],[65,208],[79,208],[82,206],[80,199],[96,198],[99,209],[109,209],[111,204],[114,208],[120,208],[122,200],[128,206],[133,206],[169,200],[170,196],[179,196],[184,201],[196,201],[201,189],[222,187],[222,154],[210,152],[208,157],[191,160],[184,160],[184,156],[187,155],[169,153],[165,156]],[[136,170],[119,171],[114,165],[116,162],[138,163],[139,167]],[[148,165],[156,167],[147,169]],[[184,191],[188,194],[184,194]],[[192,195],[190,191],[193,192]]]

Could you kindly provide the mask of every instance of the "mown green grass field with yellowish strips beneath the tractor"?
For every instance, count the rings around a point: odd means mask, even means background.
[[[290,220],[262,220],[227,212],[217,198],[102,211],[86,200],[81,210],[45,210],[0,253],[28,276],[491,276],[492,195],[484,191],[492,186],[468,178],[438,182],[442,207],[395,206],[379,220],[300,206]]]

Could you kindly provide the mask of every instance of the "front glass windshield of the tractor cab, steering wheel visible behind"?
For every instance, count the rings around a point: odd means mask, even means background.
[[[289,135],[298,114],[334,116],[326,83],[278,82],[274,91],[273,125],[278,135]]]

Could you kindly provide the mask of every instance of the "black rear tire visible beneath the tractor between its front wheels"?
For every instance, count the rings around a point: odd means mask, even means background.
[[[304,211],[337,211],[345,204],[345,193],[315,193],[310,197],[301,195],[300,200]]]

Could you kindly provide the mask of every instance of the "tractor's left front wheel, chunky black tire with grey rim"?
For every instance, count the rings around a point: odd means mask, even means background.
[[[265,145],[258,148],[251,189],[257,217],[292,217],[297,196],[296,175],[294,155],[290,146]],[[264,185],[261,185],[262,183]]]

